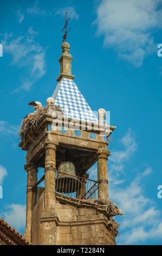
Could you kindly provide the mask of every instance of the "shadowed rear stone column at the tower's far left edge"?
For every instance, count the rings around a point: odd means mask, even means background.
[[[24,238],[31,242],[31,225],[33,208],[37,201],[37,191],[32,190],[32,187],[37,183],[37,168],[34,163],[27,163],[24,166],[27,170],[28,180],[27,180],[27,209],[26,209],[26,228],[24,232]]]

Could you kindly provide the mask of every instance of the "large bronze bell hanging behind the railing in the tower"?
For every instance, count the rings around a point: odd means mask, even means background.
[[[60,172],[60,173],[59,173]],[[56,191],[66,194],[76,192],[81,186],[81,181],[76,177],[75,166],[71,162],[62,162],[56,178]]]

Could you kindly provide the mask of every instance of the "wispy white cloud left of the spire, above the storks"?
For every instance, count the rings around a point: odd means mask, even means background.
[[[11,34],[5,34],[2,41],[4,53],[10,53],[13,57],[12,65],[20,68],[25,66],[29,72],[28,78],[23,77],[22,85],[14,92],[28,91],[34,82],[46,73],[46,53],[42,46],[35,42],[35,34],[33,28],[29,28],[27,36],[18,36],[17,39],[13,39]]]

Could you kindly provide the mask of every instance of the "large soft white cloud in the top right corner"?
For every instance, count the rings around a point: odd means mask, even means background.
[[[140,66],[147,54],[156,51],[151,33],[161,25],[160,2],[102,0],[94,23],[98,25],[97,34],[104,35],[104,46],[113,47],[119,57]]]

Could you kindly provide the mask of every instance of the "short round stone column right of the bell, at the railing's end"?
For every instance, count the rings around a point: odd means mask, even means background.
[[[107,172],[107,156],[108,152],[100,152],[98,157],[98,182],[99,182],[99,198],[108,200],[108,172]]]

